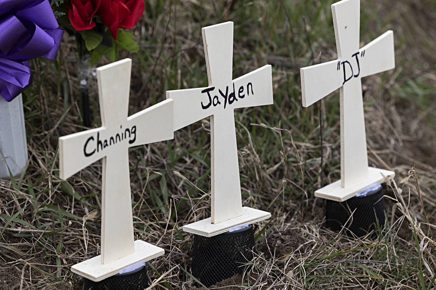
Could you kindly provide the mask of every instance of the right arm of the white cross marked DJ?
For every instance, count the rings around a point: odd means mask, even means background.
[[[394,33],[388,30],[360,50],[361,77],[395,68]]]

